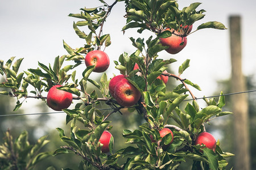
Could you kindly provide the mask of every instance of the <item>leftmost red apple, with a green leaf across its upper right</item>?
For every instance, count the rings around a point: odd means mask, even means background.
[[[57,87],[61,87],[61,85],[55,85],[48,91],[47,105],[55,111],[61,111],[71,105],[73,96],[69,92],[58,90]]]

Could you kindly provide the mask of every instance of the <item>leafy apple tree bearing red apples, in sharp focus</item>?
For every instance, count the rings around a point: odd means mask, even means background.
[[[68,54],[56,57],[53,65],[38,62],[36,69],[19,73],[23,58],[16,61],[10,58],[6,63],[1,60],[0,73],[5,82],[0,87],[9,91],[0,94],[16,97],[15,111],[22,106],[24,99],[32,97],[46,100],[49,107],[54,105],[52,109],[67,113],[66,123],[70,122],[71,126],[69,135],[57,128],[60,140],[67,145],[57,148],[53,155],[73,153],[81,156],[80,169],[176,169],[187,160],[192,160],[192,169],[225,169],[226,158],[233,154],[222,151],[220,142],[207,133],[204,126],[212,118],[231,113],[222,111],[225,105],[222,92],[217,101],[204,99],[208,106],[201,108],[191,90],[201,90],[199,85],[182,78],[189,67],[189,59],[179,66],[177,74],[166,71],[176,62],[173,54],[185,48],[187,36],[204,28],[226,29],[225,25],[207,22],[193,31],[193,23],[205,16],[205,10],[197,10],[201,4],[197,2],[180,9],[178,2],[171,0],[115,0],[112,5],[99,1],[102,3],[100,7],[85,7],[79,14],[69,14],[79,19],[73,23],[73,28],[86,44],[72,48],[63,41]],[[103,51],[111,41],[110,33],[103,34],[102,30],[116,3],[125,5],[123,33],[138,29],[142,37],[130,37],[131,45],[136,49],[134,53],[123,52],[118,61],[110,61],[115,63],[120,74],[108,78],[104,71],[108,69],[109,57]],[[84,27],[89,31],[82,31]],[[152,35],[144,37],[144,31],[150,31]],[[170,53],[169,59],[159,56],[164,50]],[[77,79],[76,67],[84,65],[84,61],[86,66],[82,78]],[[67,62],[72,64],[65,64]],[[103,73],[100,82],[90,76],[93,71]],[[167,81],[180,84],[167,91]],[[100,93],[86,91],[88,82]],[[34,90],[28,91],[29,87]],[[52,87],[56,89],[50,92]],[[77,101],[72,105],[73,109],[70,109],[70,104],[62,103],[70,95],[63,93],[56,97],[59,92],[73,95],[72,100]],[[185,101],[185,107],[180,107]],[[102,104],[110,108],[110,112],[99,109]],[[108,118],[122,113],[123,108],[141,115],[144,123],[135,130],[120,131],[129,145],[114,152]],[[78,124],[84,128],[77,129]],[[120,158],[125,161],[119,161]]]

